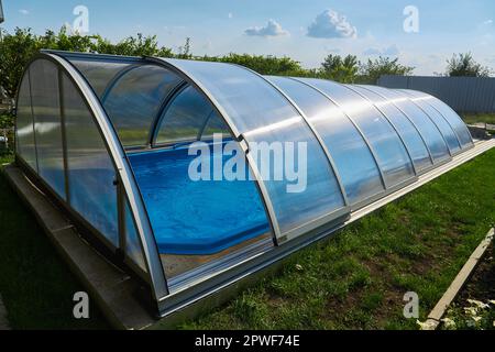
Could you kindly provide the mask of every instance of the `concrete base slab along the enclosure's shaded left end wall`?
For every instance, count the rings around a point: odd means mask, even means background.
[[[112,327],[145,329],[156,322],[148,308],[136,297],[140,290],[136,279],[94,250],[19,167],[6,166],[3,173]]]

